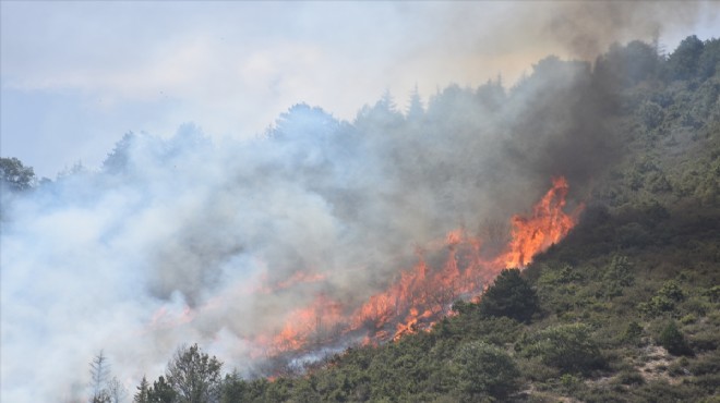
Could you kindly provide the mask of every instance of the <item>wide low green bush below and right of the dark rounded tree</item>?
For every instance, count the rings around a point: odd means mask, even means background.
[[[599,344],[584,323],[559,325],[528,334],[519,344],[525,356],[539,357],[564,373],[589,374],[604,366]]]

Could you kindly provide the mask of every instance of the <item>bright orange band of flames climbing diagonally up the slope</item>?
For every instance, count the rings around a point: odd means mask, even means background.
[[[567,181],[556,178],[552,182],[529,217],[512,218],[511,241],[497,256],[483,256],[481,240],[465,230],[451,231],[444,242],[418,251],[415,267],[403,271],[385,291],[370,296],[360,307],[351,309],[320,295],[309,306],[289,313],[275,335],[255,341],[273,355],[332,343],[348,334],[375,344],[430,329],[437,319],[451,314],[453,302],[478,297],[500,271],[526,267],[573,229],[583,207],[566,213]],[[441,254],[446,255],[444,264],[430,267],[425,256]],[[321,278],[296,274],[290,280],[313,282]]]

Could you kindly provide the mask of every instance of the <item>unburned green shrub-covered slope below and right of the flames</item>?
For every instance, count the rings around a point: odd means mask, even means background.
[[[521,272],[504,271],[479,303],[456,303],[457,315],[429,332],[352,347],[273,380],[220,379],[221,363],[184,347],[165,377],[143,380],[134,401],[720,401],[720,40],[688,37],[668,57],[634,41],[592,69],[548,58],[518,87],[561,80],[553,76],[563,70],[585,77],[572,90],[602,103],[593,110],[623,149],[610,169],[593,170],[585,212],[562,244]],[[427,112],[413,98],[407,119],[387,97],[363,113],[386,113],[397,131],[441,112],[461,126],[468,111],[439,106],[501,108],[514,91],[451,87]],[[549,106],[528,122],[550,125],[540,120],[555,112]],[[22,164],[7,163],[14,168],[3,168],[3,181],[27,187]]]

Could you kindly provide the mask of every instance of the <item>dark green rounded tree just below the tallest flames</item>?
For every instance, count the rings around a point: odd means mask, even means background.
[[[529,322],[539,310],[538,294],[518,269],[503,270],[480,300],[480,314],[485,317],[505,316]]]

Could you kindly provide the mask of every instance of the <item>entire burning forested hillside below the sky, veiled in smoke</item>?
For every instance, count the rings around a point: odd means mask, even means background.
[[[68,401],[98,343],[99,402],[720,401],[720,39],[548,57],[512,88],[398,109],[297,105],[223,146],[129,133],[56,181],[3,158],[3,283],[23,306],[3,343],[24,346],[3,351],[63,352],[73,370],[37,393]],[[575,227],[503,270],[508,223],[551,182]]]

